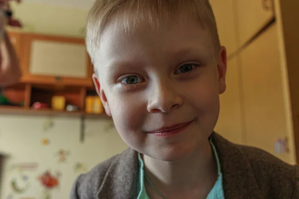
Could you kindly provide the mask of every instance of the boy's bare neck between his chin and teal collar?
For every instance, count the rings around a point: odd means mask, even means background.
[[[180,161],[164,162],[146,155],[143,159],[146,175],[167,198],[206,197],[217,180],[217,163],[208,140]],[[154,192],[147,182],[146,187]]]

